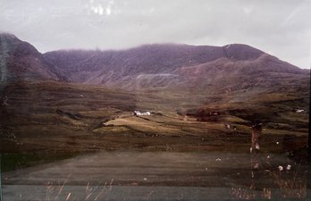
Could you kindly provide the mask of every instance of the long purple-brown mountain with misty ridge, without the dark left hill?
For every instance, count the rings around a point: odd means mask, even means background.
[[[48,63],[72,82],[116,88],[240,90],[300,84],[308,71],[254,47],[145,45],[127,50],[54,51]],[[285,80],[290,82],[284,83]]]

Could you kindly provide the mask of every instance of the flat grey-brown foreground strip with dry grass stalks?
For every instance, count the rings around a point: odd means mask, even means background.
[[[304,198],[307,167],[285,155],[98,152],[4,172],[4,200],[228,200]],[[291,165],[290,170],[279,171]],[[294,181],[293,181],[294,180]],[[288,182],[290,185],[284,183]]]

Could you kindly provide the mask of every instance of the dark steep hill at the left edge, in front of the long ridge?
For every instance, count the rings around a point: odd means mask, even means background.
[[[0,80],[63,80],[54,66],[29,43],[0,34]]]

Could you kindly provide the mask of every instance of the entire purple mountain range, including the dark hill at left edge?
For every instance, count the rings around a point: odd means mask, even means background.
[[[155,44],[119,51],[40,54],[13,35],[1,34],[0,38],[1,80],[68,80],[128,90],[160,88],[204,94],[309,88],[309,71],[242,44]]]

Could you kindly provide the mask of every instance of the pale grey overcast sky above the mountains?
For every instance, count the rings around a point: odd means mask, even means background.
[[[0,0],[0,31],[42,53],[242,43],[310,68],[311,0]]]

